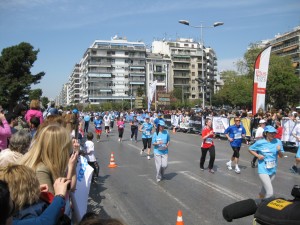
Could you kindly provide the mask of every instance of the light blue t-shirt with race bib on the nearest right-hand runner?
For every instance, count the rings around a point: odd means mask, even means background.
[[[277,169],[277,146],[280,146],[280,151],[284,152],[282,142],[274,138],[271,142],[266,139],[259,139],[249,147],[250,150],[256,151],[257,154],[263,155],[263,160],[258,160],[258,173],[272,175]]]

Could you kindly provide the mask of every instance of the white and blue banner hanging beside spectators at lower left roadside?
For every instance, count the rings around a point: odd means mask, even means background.
[[[81,220],[87,210],[93,171],[94,169],[88,164],[87,159],[80,156],[76,167],[76,191],[71,193],[74,216],[77,222]]]

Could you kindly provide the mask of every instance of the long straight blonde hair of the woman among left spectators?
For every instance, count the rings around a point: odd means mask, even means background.
[[[59,124],[50,124],[40,130],[21,164],[36,170],[38,164],[43,163],[55,180],[65,176],[71,147],[71,136],[66,128]]]

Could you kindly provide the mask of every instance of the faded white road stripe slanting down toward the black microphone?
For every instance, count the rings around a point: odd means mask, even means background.
[[[234,193],[231,190],[228,190],[227,188],[224,188],[224,187],[222,187],[220,185],[212,183],[212,182],[210,182],[208,180],[205,180],[203,178],[196,177],[194,174],[191,175],[191,172],[189,172],[189,171],[178,171],[178,173],[181,173],[181,174],[187,176],[189,179],[194,180],[194,181],[196,181],[198,183],[201,183],[202,185],[207,186],[207,187],[215,190],[216,192],[219,192],[222,195],[226,195],[227,197],[230,197],[230,198],[232,198],[234,200],[243,200],[243,199],[246,199],[245,196],[242,196],[240,194]]]

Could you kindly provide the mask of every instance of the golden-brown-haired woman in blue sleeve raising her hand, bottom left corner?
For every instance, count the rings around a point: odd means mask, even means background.
[[[55,225],[61,216],[61,208],[65,205],[67,186],[66,178],[58,178],[54,183],[55,194],[52,203],[40,200],[41,191],[34,171],[24,165],[8,165],[0,167],[0,180],[8,184],[10,198],[13,202],[13,224]],[[44,189],[44,190],[43,190]]]

